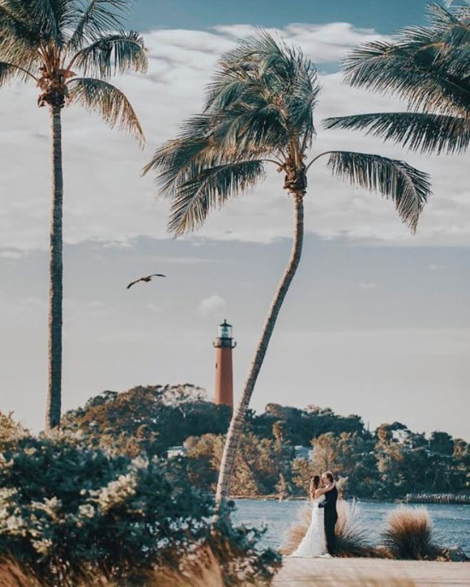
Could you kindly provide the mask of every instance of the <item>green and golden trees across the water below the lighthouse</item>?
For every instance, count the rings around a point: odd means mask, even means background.
[[[187,456],[179,466],[201,490],[215,488],[228,423],[228,409],[190,385],[104,392],[63,419],[91,446],[112,447],[116,454],[165,456],[168,447],[184,444]],[[312,474],[327,469],[342,478],[348,496],[464,491],[470,487],[470,445],[445,432],[427,438],[398,422],[372,433],[354,414],[268,404],[262,414],[249,412],[232,494],[305,495]]]

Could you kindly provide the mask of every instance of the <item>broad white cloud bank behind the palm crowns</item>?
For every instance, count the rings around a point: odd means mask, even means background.
[[[140,169],[156,146],[174,136],[181,120],[200,110],[204,86],[218,56],[251,30],[248,25],[235,25],[208,31],[165,29],[146,35],[148,75],[129,74],[116,80],[146,130],[148,147],[144,152],[138,151],[129,137],[108,129],[98,117],[78,107],[65,110],[66,242],[96,239],[126,247],[138,235],[168,238],[168,203],[155,200],[153,178],[141,178]],[[348,23],[292,24],[280,32],[286,42],[300,45],[320,64],[338,62],[360,42],[384,38]],[[320,78],[323,90],[316,113],[316,152],[339,148],[405,158],[432,172],[434,195],[418,235],[411,237],[393,205],[377,195],[333,180],[320,160],[309,173],[306,231],[322,238],[342,235],[390,244],[470,244],[470,171],[465,160],[420,157],[397,146],[384,146],[380,140],[360,133],[322,130],[322,117],[396,110],[400,104],[391,98],[346,87],[339,74]],[[0,99],[0,196],[4,196],[0,248],[46,249],[50,200],[48,115],[45,109],[36,108],[36,89],[32,86],[2,89]],[[275,170],[269,171],[265,183],[252,194],[236,198],[223,210],[214,212],[198,234],[219,240],[258,242],[290,237],[290,201]]]

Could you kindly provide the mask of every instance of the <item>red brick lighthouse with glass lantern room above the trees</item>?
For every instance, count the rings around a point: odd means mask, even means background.
[[[214,403],[234,407],[234,374],[232,349],[236,342],[232,338],[232,325],[226,320],[219,324],[218,336],[212,345],[215,347],[215,386]]]

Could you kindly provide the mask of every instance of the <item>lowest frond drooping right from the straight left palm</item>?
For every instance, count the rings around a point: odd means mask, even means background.
[[[127,97],[117,87],[103,80],[78,77],[70,80],[70,103],[82,104],[97,112],[111,128],[119,128],[132,136],[143,147],[145,137],[136,113]]]

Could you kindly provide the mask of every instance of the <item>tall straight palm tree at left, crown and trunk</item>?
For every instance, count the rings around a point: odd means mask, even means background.
[[[62,379],[62,123],[66,104],[81,104],[110,124],[144,135],[126,96],[106,79],[144,72],[143,39],[121,30],[129,0],[0,0],[0,87],[33,81],[49,109],[52,134],[49,345],[46,427],[59,426]],[[119,32],[113,32],[119,29]],[[79,77],[75,70],[82,72]]]

